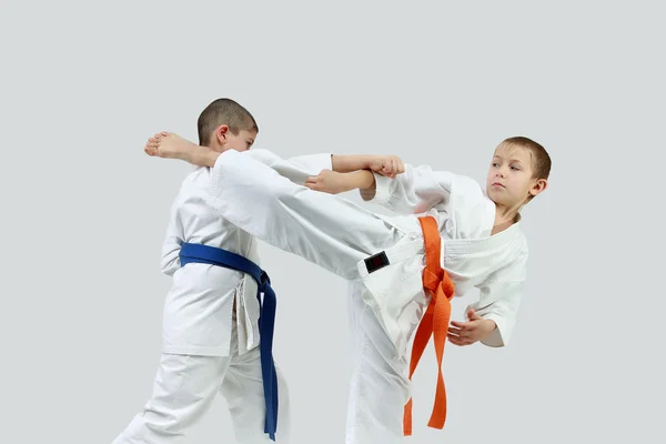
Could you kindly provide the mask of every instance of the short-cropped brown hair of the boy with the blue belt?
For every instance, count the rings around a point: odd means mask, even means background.
[[[228,125],[234,134],[242,130],[259,132],[259,125],[250,111],[231,99],[218,99],[205,107],[199,115],[196,121],[199,144],[210,145],[213,131],[221,124]]]

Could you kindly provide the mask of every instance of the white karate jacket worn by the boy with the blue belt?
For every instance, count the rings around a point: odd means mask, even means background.
[[[276,168],[285,162],[264,150],[252,150],[248,155]],[[300,167],[290,178],[296,182],[332,168],[331,154],[303,155],[286,162],[287,165]],[[289,168],[285,174],[290,175]],[[161,262],[162,272],[173,275],[173,285],[164,303],[164,353],[229,355],[234,299],[239,353],[243,354],[259,345],[260,306],[254,280],[248,274],[215,265],[180,265],[179,253],[183,242],[224,249],[262,265],[256,240],[223,219],[206,203],[210,176],[209,168],[198,168],[188,174],[171,209]],[[270,269],[266,272],[271,274]]]

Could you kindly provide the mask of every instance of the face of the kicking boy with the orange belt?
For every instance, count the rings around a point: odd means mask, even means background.
[[[532,178],[532,153],[522,147],[500,145],[488,169],[486,193],[493,202],[513,208],[545,188],[545,181]]]

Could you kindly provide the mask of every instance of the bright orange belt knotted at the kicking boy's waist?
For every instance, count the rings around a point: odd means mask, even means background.
[[[435,353],[437,355],[437,366],[440,374],[437,376],[437,391],[435,393],[435,405],[427,425],[433,428],[443,428],[446,421],[446,390],[444,389],[444,377],[442,376],[442,360],[444,357],[444,344],[448,331],[448,321],[451,320],[451,299],[455,287],[453,281],[440,262],[442,239],[437,222],[432,216],[418,218],[423,239],[425,243],[425,270],[423,271],[423,287],[430,291],[432,299],[427,310],[418,324],[412,346],[412,361],[410,363],[410,381],[418,360],[423,355],[431,335],[435,337]],[[403,418],[405,436],[412,434],[412,398],[405,404]]]

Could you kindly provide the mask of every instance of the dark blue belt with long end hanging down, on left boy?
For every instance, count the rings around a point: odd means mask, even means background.
[[[278,374],[275,372],[275,363],[273,362],[272,349],[278,301],[275,292],[271,287],[269,275],[248,258],[209,245],[183,243],[180,251],[180,261],[181,266],[194,262],[236,270],[250,274],[256,281],[259,286],[256,299],[261,306],[259,315],[259,350],[261,353],[261,373],[266,405],[264,433],[268,433],[271,440],[275,441],[275,431],[278,428]],[[263,303],[261,301],[261,293],[264,294]]]

